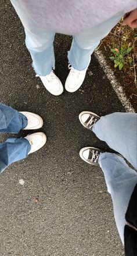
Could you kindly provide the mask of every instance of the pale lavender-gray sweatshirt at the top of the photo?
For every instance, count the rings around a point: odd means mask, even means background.
[[[39,27],[77,34],[136,8],[136,0],[18,0]]]

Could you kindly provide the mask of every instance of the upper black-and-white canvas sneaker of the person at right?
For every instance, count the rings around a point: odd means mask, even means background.
[[[92,130],[93,125],[100,119],[100,117],[93,112],[83,111],[80,113],[79,119],[86,129]]]

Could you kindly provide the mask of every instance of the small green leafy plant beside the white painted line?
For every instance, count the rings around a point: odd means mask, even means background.
[[[131,53],[132,47],[125,47],[125,46],[117,47],[116,44],[113,44],[113,48],[110,48],[110,50],[114,55],[110,57],[110,60],[114,61],[115,68],[118,67],[119,70],[121,70],[124,67],[125,56]]]

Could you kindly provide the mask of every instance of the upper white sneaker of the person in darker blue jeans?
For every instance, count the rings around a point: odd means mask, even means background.
[[[44,122],[40,116],[31,112],[20,112],[27,117],[28,124],[23,130],[35,130],[43,126]]]

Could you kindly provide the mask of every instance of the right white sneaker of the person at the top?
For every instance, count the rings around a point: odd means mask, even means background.
[[[89,63],[90,63],[90,61],[91,61],[91,58],[89,60]],[[88,64],[88,66],[89,66],[89,64]],[[80,71],[80,70],[75,70],[75,68],[71,67],[71,65],[69,64],[68,67],[69,67],[70,73],[69,73],[69,75],[66,79],[66,83],[65,83],[66,91],[75,92],[81,87],[81,85],[85,79],[86,70],[88,69],[88,66],[84,70]]]

